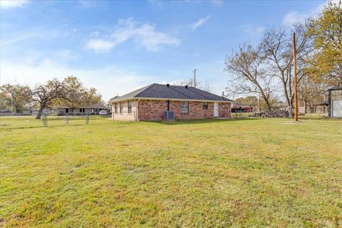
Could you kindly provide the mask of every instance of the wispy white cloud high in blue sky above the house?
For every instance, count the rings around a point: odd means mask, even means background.
[[[108,34],[105,38],[90,39],[86,46],[95,51],[110,51],[113,47],[128,41],[130,38],[149,51],[158,51],[162,45],[180,45],[179,38],[156,31],[152,24],[137,25],[134,19],[130,18],[120,19],[118,27],[113,33]]]

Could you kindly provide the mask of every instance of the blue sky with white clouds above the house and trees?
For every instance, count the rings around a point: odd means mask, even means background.
[[[224,58],[326,1],[0,1],[0,84],[76,76],[108,100],[193,76],[222,94]]]

